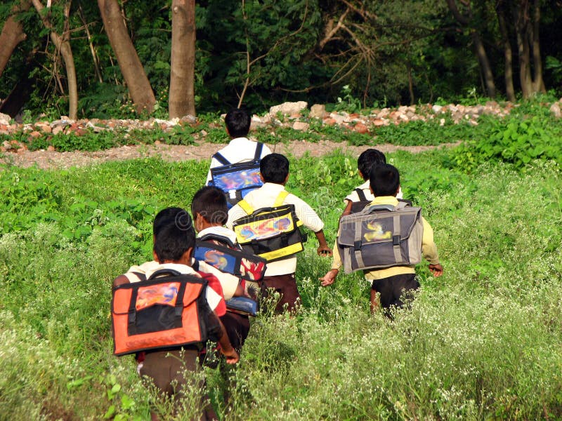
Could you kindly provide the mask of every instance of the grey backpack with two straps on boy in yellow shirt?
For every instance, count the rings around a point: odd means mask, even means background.
[[[337,245],[344,272],[417,265],[424,226],[421,208],[399,202],[367,206],[339,222]]]

